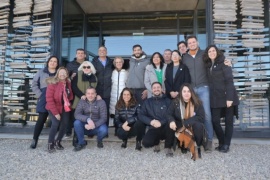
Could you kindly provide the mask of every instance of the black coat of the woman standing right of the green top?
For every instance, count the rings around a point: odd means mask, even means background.
[[[167,97],[171,98],[170,92],[177,91],[179,92],[180,87],[184,83],[191,83],[191,77],[188,70],[188,67],[183,63],[179,64],[179,68],[173,79],[173,63],[168,64],[165,72],[165,88]]]

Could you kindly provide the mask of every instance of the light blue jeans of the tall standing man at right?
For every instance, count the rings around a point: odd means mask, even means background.
[[[210,110],[209,87],[208,86],[201,86],[198,88],[195,87],[194,91],[202,101],[204,112],[205,112],[204,125],[208,133],[208,140],[212,141],[214,131],[213,131],[213,124],[212,124],[211,110]]]

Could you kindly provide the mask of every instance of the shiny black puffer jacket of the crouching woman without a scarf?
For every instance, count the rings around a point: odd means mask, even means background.
[[[134,125],[137,121],[137,109],[138,106],[131,106],[129,108],[123,107],[121,109],[115,109],[115,126],[122,127],[122,125],[127,121],[128,126]]]

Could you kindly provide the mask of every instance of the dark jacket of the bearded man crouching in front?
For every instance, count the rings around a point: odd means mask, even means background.
[[[146,99],[139,111],[139,120],[149,126],[153,119],[159,120],[161,125],[167,124],[167,110],[170,103],[171,100],[165,95]],[[150,128],[153,127],[150,126]]]

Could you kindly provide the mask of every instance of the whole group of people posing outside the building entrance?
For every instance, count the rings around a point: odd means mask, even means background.
[[[190,132],[201,157],[202,145],[206,152],[212,151],[215,132],[219,143],[215,149],[228,152],[239,104],[231,63],[215,45],[201,50],[196,36],[188,36],[177,47],[163,55],[155,52],[149,59],[140,45],[134,45],[128,66],[121,57],[111,60],[105,46],[91,62],[83,49],[77,49],[66,68],[59,67],[57,57],[50,57],[32,83],[39,118],[30,147],[36,148],[49,115],[49,152],[64,149],[61,140],[72,134],[72,127],[78,139],[74,151],[87,145],[84,135],[96,135],[97,147],[103,148],[110,117],[122,148],[136,137],[136,150],[154,147],[159,152],[160,141],[165,140],[170,157],[179,133]],[[203,144],[205,131],[208,141]],[[178,146],[186,152],[187,146]]]

